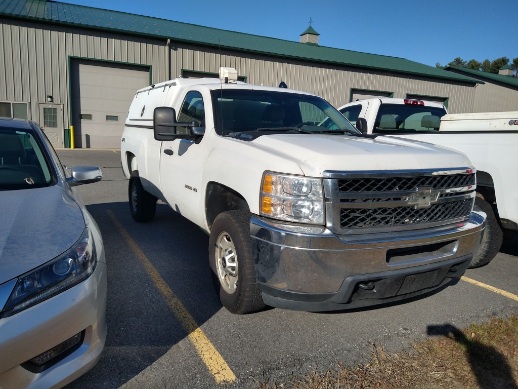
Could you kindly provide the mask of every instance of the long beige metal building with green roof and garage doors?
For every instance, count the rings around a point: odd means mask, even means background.
[[[0,116],[38,121],[54,147],[118,148],[135,91],[235,67],[252,84],[323,96],[422,98],[472,112],[483,81],[397,57],[46,0],[0,0]],[[70,139],[70,127],[74,127]]]

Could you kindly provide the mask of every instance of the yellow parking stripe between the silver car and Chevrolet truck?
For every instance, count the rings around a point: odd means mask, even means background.
[[[228,367],[221,354],[212,345],[202,329],[199,328],[198,324],[191,316],[189,311],[169,288],[160,273],[154,268],[152,263],[146,257],[146,254],[142,252],[130,234],[124,229],[124,227],[122,227],[122,224],[117,219],[117,217],[109,210],[106,211],[106,213],[110,216],[119,233],[135,253],[140,263],[155,284],[156,288],[160,290],[162,295],[164,295],[169,308],[171,309],[172,313],[175,314],[183,329],[187,332],[187,334],[189,334],[189,340],[194,345],[199,356],[202,358],[203,362],[212,374],[212,377],[214,377],[214,380],[218,384],[234,382],[236,380],[236,376],[232,372],[231,368]]]

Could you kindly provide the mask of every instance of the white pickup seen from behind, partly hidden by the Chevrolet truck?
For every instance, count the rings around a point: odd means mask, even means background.
[[[358,100],[338,110],[365,134],[396,135],[462,151],[477,169],[476,207],[487,214],[470,267],[498,253],[502,234],[518,231],[518,112],[447,114],[444,105],[412,99]],[[329,126],[327,126],[329,127]]]

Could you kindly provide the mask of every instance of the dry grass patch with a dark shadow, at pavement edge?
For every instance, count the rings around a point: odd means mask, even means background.
[[[412,349],[386,353],[372,345],[365,364],[312,374],[272,389],[518,389],[518,316],[459,330],[430,326]],[[268,387],[265,385],[264,387]]]

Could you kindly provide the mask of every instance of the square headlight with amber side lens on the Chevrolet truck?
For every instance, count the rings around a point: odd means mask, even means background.
[[[322,180],[265,172],[261,214],[299,223],[324,224]]]

